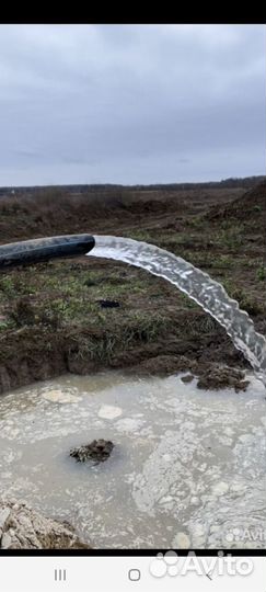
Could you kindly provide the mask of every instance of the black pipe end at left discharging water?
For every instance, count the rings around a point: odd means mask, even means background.
[[[89,253],[94,244],[91,235],[65,235],[0,244],[0,271],[49,259],[79,257]]]

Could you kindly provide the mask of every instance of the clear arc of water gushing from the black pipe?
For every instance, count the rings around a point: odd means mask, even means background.
[[[221,284],[176,257],[154,244],[123,237],[94,235],[95,247],[90,257],[115,259],[164,277],[187,294],[206,312],[209,312],[232,339],[266,385],[266,340],[255,331],[254,323],[239,303],[229,297]]]

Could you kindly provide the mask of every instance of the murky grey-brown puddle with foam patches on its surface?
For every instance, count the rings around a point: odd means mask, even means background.
[[[0,496],[96,548],[265,548],[266,400],[178,376],[66,376],[0,398]],[[73,446],[111,440],[96,466]]]

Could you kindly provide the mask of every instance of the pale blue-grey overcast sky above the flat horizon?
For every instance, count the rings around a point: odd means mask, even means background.
[[[265,174],[263,25],[0,25],[0,185]]]

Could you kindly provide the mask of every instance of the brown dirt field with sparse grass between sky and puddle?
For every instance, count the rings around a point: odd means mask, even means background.
[[[221,282],[265,334],[266,182],[253,185],[1,197],[0,242],[88,232],[158,244]],[[103,299],[119,306],[102,308]],[[219,388],[220,364],[250,367],[210,316],[142,270],[84,257],[0,274],[0,392],[103,368],[189,371]],[[240,383],[243,374],[228,371],[228,384]]]

